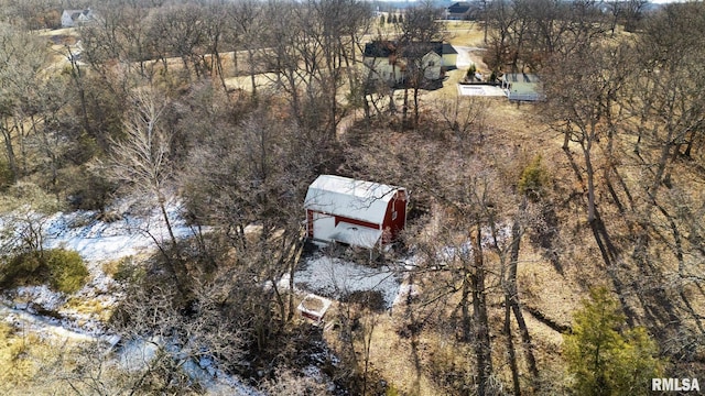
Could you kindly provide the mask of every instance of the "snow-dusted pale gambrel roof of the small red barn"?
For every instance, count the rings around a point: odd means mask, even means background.
[[[381,224],[387,206],[404,188],[349,177],[321,175],[308,186],[304,208]]]

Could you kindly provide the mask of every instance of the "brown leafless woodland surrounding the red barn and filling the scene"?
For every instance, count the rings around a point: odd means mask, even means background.
[[[57,30],[61,10],[84,7],[96,21]],[[101,345],[29,346],[2,324],[0,393],[198,394],[182,370],[198,356],[272,395],[705,387],[703,2],[479,3],[464,29],[480,32],[482,67],[542,77],[546,100],[521,106],[369,79],[371,40],[453,38],[431,3],[395,23],[357,0],[1,10],[1,209],[14,231],[0,288],[85,282],[80,257],[43,249],[41,213],[109,221],[133,199],[171,230],[178,197],[204,231],[154,239],[153,256],[113,274],[129,297],[106,327],[177,353],[120,371]],[[279,283],[307,254],[302,205],[319,174],[409,188],[410,224],[379,260],[413,256],[399,272],[421,290],[392,311],[351,296],[326,331]]]

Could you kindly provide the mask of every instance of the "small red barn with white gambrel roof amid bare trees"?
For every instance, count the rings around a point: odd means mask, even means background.
[[[306,235],[373,249],[393,242],[406,223],[409,194],[403,187],[321,175],[306,194]]]

